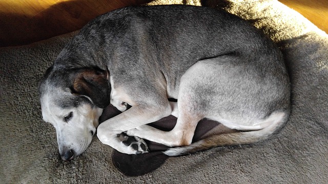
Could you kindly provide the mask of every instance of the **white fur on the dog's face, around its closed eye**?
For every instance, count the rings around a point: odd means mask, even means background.
[[[96,132],[103,109],[91,108],[87,103],[63,109],[55,103],[55,100],[63,99],[54,99],[49,94],[44,95],[41,99],[42,115],[44,121],[51,123],[56,129],[59,153],[64,154],[65,151],[73,150],[76,157],[90,145],[92,132]],[[72,116],[66,121],[65,117],[70,113]]]

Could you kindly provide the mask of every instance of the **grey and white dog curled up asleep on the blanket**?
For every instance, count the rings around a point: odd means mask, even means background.
[[[64,160],[84,152],[96,128],[119,152],[145,153],[146,139],[177,156],[265,140],[290,113],[275,44],[237,16],[182,5],[122,8],[90,21],[48,68],[39,94]],[[110,103],[122,113],[98,126]],[[177,117],[171,131],[147,125],[170,114]],[[191,144],[203,118],[239,131],[214,128]]]

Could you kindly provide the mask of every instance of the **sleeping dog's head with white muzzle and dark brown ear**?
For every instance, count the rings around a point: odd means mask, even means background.
[[[103,108],[110,103],[108,72],[94,68],[48,68],[39,85],[44,121],[57,134],[59,154],[73,159],[90,145]]]

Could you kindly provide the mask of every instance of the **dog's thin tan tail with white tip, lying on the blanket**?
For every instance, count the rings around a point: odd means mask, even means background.
[[[189,146],[170,148],[163,153],[169,156],[186,155],[218,146],[251,144],[268,139],[276,130],[280,129],[288,120],[289,113],[278,112],[264,120],[269,126],[254,131],[239,131],[219,135],[210,135],[205,139],[195,142]]]

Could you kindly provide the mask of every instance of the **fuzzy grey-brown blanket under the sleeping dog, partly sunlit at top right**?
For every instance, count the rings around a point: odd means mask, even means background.
[[[279,45],[292,83],[292,113],[277,135],[254,145],[171,157],[138,177],[119,172],[113,149],[96,136],[86,152],[64,162],[55,129],[42,121],[37,85],[72,33],[0,49],[0,183],[327,183],[328,35],[277,1],[201,5],[252,21]]]

